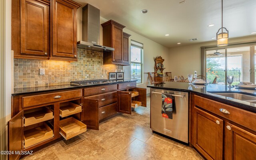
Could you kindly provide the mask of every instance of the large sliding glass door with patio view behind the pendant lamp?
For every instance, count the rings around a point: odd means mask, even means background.
[[[254,44],[236,44],[223,48],[205,48],[205,74],[209,81],[217,76],[217,84],[226,84],[226,76],[234,76],[232,85],[256,82]]]

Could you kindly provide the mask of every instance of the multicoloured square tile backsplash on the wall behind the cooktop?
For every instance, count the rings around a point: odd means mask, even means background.
[[[39,75],[39,68],[45,75]],[[78,62],[14,58],[14,88],[69,84],[72,80],[108,79],[121,65],[103,65],[103,53],[78,49]],[[103,76],[103,77],[102,77]]]

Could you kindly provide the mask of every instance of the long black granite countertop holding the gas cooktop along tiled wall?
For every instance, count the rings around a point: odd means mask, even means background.
[[[50,86],[36,86],[36,87],[25,87],[25,88],[14,88],[14,92],[12,96],[17,96],[20,94],[30,94],[30,93],[38,93],[38,92],[47,92],[47,91],[56,91],[56,90],[65,90],[65,89],[73,89],[73,88],[87,88],[92,86],[102,86],[102,85],[110,85],[110,84],[119,84],[126,82],[136,82],[137,80],[119,80],[118,82],[110,82],[110,83],[98,83],[98,84],[90,84],[86,86],[73,86],[70,84],[59,84],[59,85],[50,85]]]

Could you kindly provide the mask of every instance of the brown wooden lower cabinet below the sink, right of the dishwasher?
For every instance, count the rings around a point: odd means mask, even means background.
[[[194,94],[191,97],[190,143],[198,152],[207,160],[256,160],[254,122],[245,123],[256,119],[255,113]],[[221,108],[229,114],[220,112]]]

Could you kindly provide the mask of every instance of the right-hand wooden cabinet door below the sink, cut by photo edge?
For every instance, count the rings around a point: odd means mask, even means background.
[[[226,160],[256,160],[256,135],[225,123]]]

